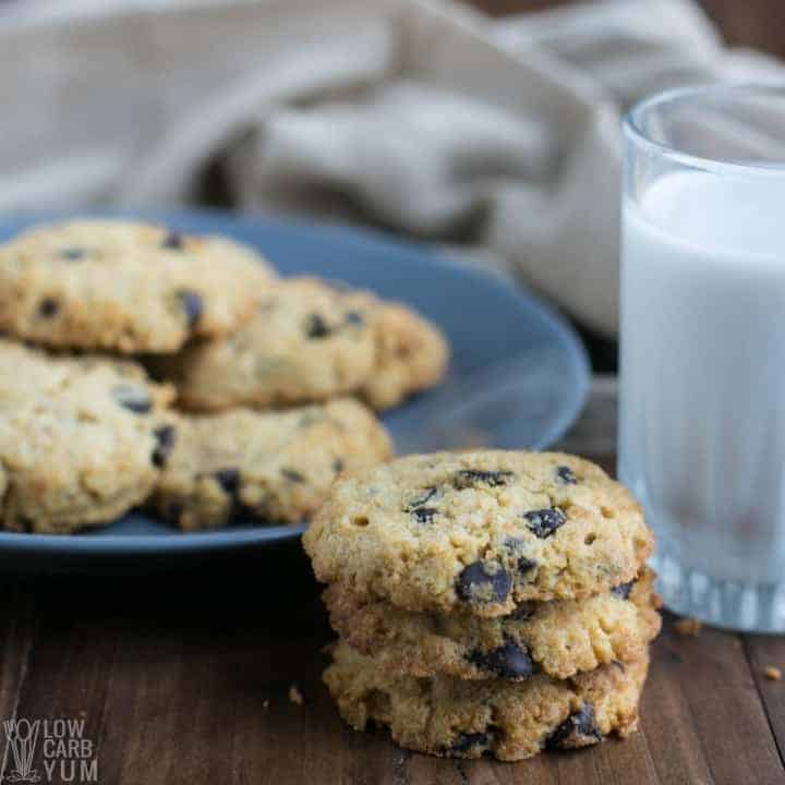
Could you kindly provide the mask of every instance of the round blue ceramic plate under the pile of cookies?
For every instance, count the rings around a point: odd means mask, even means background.
[[[551,307],[500,277],[346,227],[204,210],[134,215],[186,232],[228,234],[259,249],[283,275],[309,273],[366,287],[440,325],[452,346],[447,381],[384,418],[399,452],[480,444],[544,448],[580,411],[589,365],[578,337]],[[38,220],[0,220],[0,239]],[[110,557],[241,548],[301,532],[240,523],[185,534],[134,514],[75,536],[0,532],[0,561],[69,569]]]

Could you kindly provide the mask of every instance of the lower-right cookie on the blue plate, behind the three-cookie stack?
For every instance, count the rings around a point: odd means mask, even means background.
[[[382,423],[352,399],[281,412],[181,415],[171,426],[173,448],[154,503],[183,529],[240,517],[299,523],[341,473],[392,454]]]

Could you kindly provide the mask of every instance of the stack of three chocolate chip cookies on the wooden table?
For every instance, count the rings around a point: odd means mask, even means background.
[[[336,483],[304,535],[343,718],[519,760],[637,724],[660,630],[640,507],[561,454],[411,456]]]

